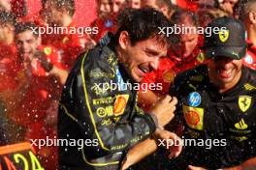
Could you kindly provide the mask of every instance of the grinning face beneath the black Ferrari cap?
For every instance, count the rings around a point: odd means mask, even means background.
[[[225,92],[233,88],[240,80],[242,60],[217,56],[208,61],[208,75],[212,83]]]

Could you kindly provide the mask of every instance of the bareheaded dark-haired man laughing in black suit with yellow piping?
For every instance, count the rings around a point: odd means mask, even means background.
[[[176,99],[167,96],[144,114],[135,88],[166,55],[170,38],[157,33],[169,21],[153,9],[124,12],[119,21],[116,34],[108,34],[82,54],[68,77],[59,106],[58,136],[91,142],[80,150],[59,147],[60,169],[117,169],[127,150],[151,134],[176,136],[157,128],[174,116]],[[177,147],[172,154],[179,152]]]

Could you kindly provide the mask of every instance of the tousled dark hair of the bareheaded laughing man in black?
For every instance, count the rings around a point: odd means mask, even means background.
[[[159,42],[171,43],[171,37],[159,34],[160,27],[170,27],[168,18],[152,8],[126,9],[118,15],[118,29],[114,35],[117,44],[122,31],[127,31],[132,45],[157,36]]]

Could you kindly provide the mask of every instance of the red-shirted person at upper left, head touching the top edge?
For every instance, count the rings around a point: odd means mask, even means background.
[[[86,42],[84,30],[78,31],[78,25],[73,18],[76,11],[75,0],[48,0],[46,7],[48,26],[58,31],[44,34],[42,44],[57,48],[62,56],[62,63],[69,71]]]

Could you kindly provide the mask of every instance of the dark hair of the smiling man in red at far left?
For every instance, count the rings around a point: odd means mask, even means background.
[[[27,30],[32,31],[33,35],[38,38],[39,33],[38,33],[38,26],[34,22],[18,22],[16,24],[16,35],[19,33],[23,33]],[[35,31],[33,31],[35,30]]]

